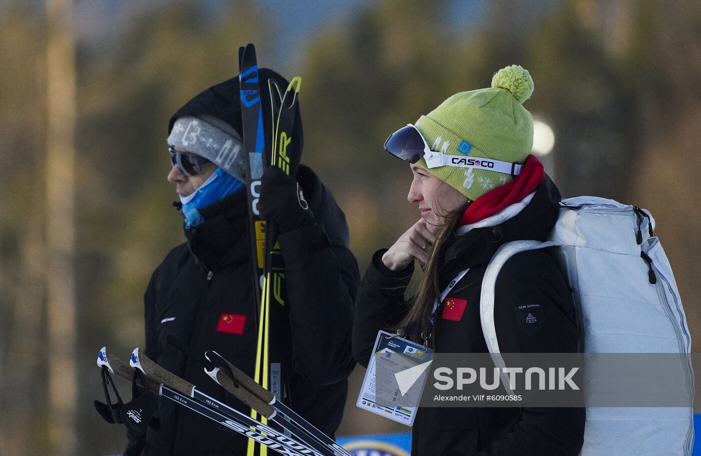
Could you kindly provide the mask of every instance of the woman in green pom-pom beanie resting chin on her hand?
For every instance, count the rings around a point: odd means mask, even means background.
[[[421,218],[374,254],[360,284],[353,322],[360,364],[367,366],[379,330],[423,338],[436,353],[488,352],[479,312],[486,266],[505,242],[545,240],[559,211],[557,187],[529,155],[533,118],[522,103],[532,92],[528,71],[506,67],[491,88],[453,95],[386,141],[409,162],[407,198]],[[424,276],[405,300],[414,260]],[[503,353],[578,351],[573,300],[547,249],[503,266],[494,324]],[[411,454],[576,456],[584,424],[584,408],[419,408]]]

